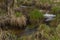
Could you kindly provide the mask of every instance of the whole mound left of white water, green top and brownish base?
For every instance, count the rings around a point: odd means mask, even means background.
[[[43,17],[43,13],[39,12],[39,10],[34,9],[33,11],[31,11],[29,13],[29,17],[30,17],[30,22],[32,24],[38,24],[44,17]]]

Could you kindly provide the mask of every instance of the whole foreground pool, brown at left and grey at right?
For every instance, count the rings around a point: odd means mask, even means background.
[[[24,30],[22,30],[22,29],[8,29],[6,31],[8,31],[8,32],[10,32],[12,34],[15,34],[17,36],[24,36],[24,35],[30,35],[33,32],[36,32],[37,28],[35,28],[35,29],[26,28]]]

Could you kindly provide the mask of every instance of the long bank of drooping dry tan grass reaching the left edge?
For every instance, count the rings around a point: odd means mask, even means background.
[[[12,27],[20,27],[23,28],[26,26],[26,17],[24,15],[20,17],[16,17],[15,15],[12,15],[10,18],[8,16],[2,16],[0,18],[0,27],[6,28],[6,26],[9,28]]]

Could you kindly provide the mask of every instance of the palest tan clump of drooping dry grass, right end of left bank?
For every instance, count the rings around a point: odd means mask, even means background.
[[[14,15],[11,16],[10,24],[14,26],[26,26],[26,17],[22,15],[21,17],[15,17]]]

